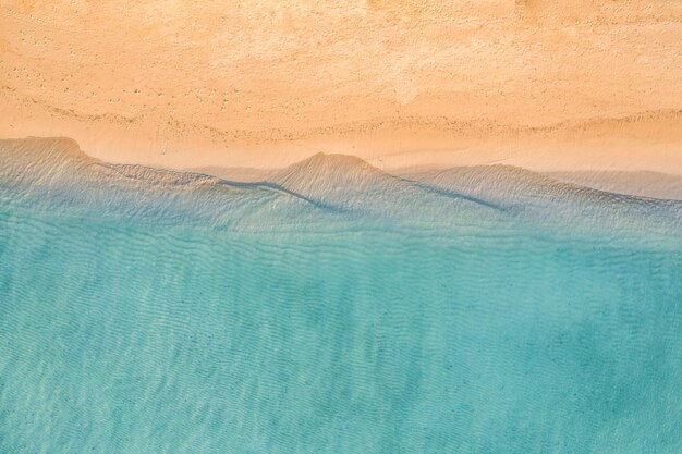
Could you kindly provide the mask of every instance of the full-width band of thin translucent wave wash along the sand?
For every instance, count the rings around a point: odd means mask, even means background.
[[[626,196],[508,165],[392,175],[364,160],[318,154],[267,181],[113,164],[68,138],[0,140],[5,203],[77,216],[273,228],[375,222],[679,231],[682,203]]]

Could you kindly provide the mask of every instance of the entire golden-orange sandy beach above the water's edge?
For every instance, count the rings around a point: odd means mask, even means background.
[[[678,0],[288,3],[0,0],[0,138],[232,175],[318,151],[682,175]]]

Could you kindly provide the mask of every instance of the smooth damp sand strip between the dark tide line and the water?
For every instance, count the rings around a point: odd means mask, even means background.
[[[26,110],[31,110],[27,112]],[[106,116],[80,121],[35,106],[13,111],[0,126],[2,138],[56,137],[76,140],[90,157],[112,163],[172,170],[244,169],[246,173],[285,168],[317,152],[355,156],[386,170],[444,169],[508,164],[535,172],[659,172],[682,176],[682,111],[666,110],[549,126],[474,122],[357,123],[302,131],[290,138],[268,131],[235,137],[209,135],[151,121],[120,124]],[[21,119],[32,119],[22,124]]]

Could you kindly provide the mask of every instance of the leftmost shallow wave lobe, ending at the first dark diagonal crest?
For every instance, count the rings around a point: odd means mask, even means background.
[[[102,162],[70,139],[2,140],[0,157],[0,198],[32,210],[214,226],[254,226],[263,219],[289,225],[329,214],[266,184]]]

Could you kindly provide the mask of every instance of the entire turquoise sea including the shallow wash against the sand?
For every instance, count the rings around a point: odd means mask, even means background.
[[[0,453],[682,452],[680,201],[0,163]]]

